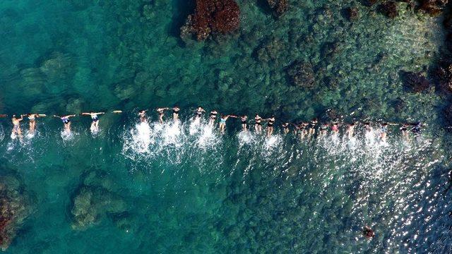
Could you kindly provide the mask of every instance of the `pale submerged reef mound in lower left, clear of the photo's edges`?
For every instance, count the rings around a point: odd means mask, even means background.
[[[114,185],[105,171],[91,171],[85,176],[72,202],[73,229],[87,229],[105,217],[126,224],[126,202],[117,195]]]

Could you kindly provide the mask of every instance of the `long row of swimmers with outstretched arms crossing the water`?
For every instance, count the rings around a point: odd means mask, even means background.
[[[172,108],[169,107],[157,107],[155,109],[157,116],[158,116],[158,121],[160,123],[164,123],[164,118],[165,118],[165,111],[167,110],[171,110],[172,111],[172,119],[173,121],[178,121],[179,120],[179,107],[175,106]],[[148,116],[147,113],[148,109],[146,110],[141,110],[138,112],[138,117],[141,121],[141,123],[147,123],[148,122]],[[112,111],[112,113],[114,114],[120,114],[122,113],[122,111],[120,110],[115,110]],[[203,109],[202,107],[198,107],[195,111],[194,114],[194,120],[195,121],[201,121],[203,114],[206,114],[207,111],[205,109]],[[99,115],[105,114],[105,112],[85,112],[82,113],[81,116],[90,116],[92,119],[92,123],[90,126],[90,130],[91,131],[99,131]],[[210,111],[209,117],[208,117],[208,125],[214,127],[215,126],[215,121],[218,118],[218,111],[216,110],[212,110]],[[0,114],[0,117],[6,117],[7,115],[5,114]],[[14,135],[18,135],[19,138],[22,137],[22,131],[20,129],[20,121],[23,121],[23,117],[26,116],[29,120],[30,123],[30,127],[29,127],[29,131],[30,133],[35,133],[36,130],[36,119],[40,118],[40,117],[44,117],[47,116],[45,114],[22,114],[20,115],[20,118],[17,117],[16,115],[12,116],[12,123],[13,123],[13,130],[12,130],[12,134]],[[54,117],[59,118],[63,124],[64,124],[64,131],[70,133],[71,132],[71,117],[77,116],[76,114],[71,114],[71,115],[65,115],[65,116],[57,116],[54,115]],[[270,116],[268,119],[263,119],[261,116],[259,116],[258,114],[256,114],[256,116],[254,116],[254,119],[251,119],[251,121],[249,121],[248,116],[242,115],[242,116],[236,116],[233,114],[220,114],[220,123],[218,125],[218,128],[220,130],[220,133],[225,133],[225,128],[226,128],[226,121],[230,118],[233,119],[240,119],[241,124],[242,124],[242,131],[249,131],[249,123],[254,123],[254,131],[256,131],[256,133],[262,133],[263,129],[262,129],[262,123],[266,122],[266,135],[268,137],[270,137],[271,135],[273,135],[273,131],[274,131],[274,127],[275,127],[275,116]],[[314,136],[316,134],[316,129],[319,129],[319,136],[322,135],[326,135],[328,133],[328,131],[331,131],[331,133],[333,135],[337,135],[339,133],[339,127],[340,126],[346,126],[345,128],[345,134],[347,135],[348,138],[352,138],[355,134],[355,127],[358,124],[362,124],[364,126],[364,130],[366,133],[370,133],[371,131],[373,131],[373,128],[371,127],[371,123],[366,121],[366,122],[353,122],[353,123],[339,123],[338,121],[333,121],[332,123],[321,123],[319,124],[317,119],[312,119],[309,122],[302,122],[302,123],[290,123],[290,122],[285,122],[282,124],[283,127],[283,133],[287,134],[290,133],[290,126],[293,126],[293,132],[297,135],[300,136],[300,138],[304,139],[305,137],[311,137]],[[383,141],[386,141],[386,137],[387,137],[387,133],[388,133],[388,126],[390,125],[400,125],[400,131],[403,134],[403,136],[408,136],[408,133],[412,132],[412,133],[420,133],[421,128],[423,126],[422,123],[418,122],[418,123],[387,123],[387,122],[383,122],[380,123],[380,138]]]

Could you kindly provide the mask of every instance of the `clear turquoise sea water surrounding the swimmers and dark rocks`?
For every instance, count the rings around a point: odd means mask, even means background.
[[[290,1],[275,19],[265,1],[238,1],[241,27],[184,42],[186,1],[1,1],[0,109],[78,114],[61,136],[39,119],[25,143],[2,122],[1,175],[14,176],[30,214],[9,253],[441,253],[450,251],[450,143],[445,102],[412,94],[400,71],[441,56],[441,17],[406,10],[388,20],[356,1]],[[344,9],[356,6],[350,22]],[[314,87],[287,69],[309,63]],[[136,111],[178,104],[178,124],[136,125]],[[191,123],[194,107],[278,120],[424,121],[420,138],[391,127],[388,145],[358,133],[268,140],[221,136]],[[3,113],[2,112],[2,113]],[[26,123],[23,123],[25,129]],[[377,135],[375,133],[375,135]],[[372,241],[360,234],[365,224]]]

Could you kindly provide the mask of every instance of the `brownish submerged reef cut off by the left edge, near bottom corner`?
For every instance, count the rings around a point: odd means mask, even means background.
[[[0,176],[0,247],[6,250],[31,212],[29,195],[16,176]]]

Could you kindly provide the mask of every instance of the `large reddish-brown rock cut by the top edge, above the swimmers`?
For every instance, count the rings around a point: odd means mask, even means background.
[[[185,39],[196,35],[206,40],[212,34],[226,34],[239,28],[240,9],[234,0],[196,0],[195,13],[188,16],[181,28]]]

